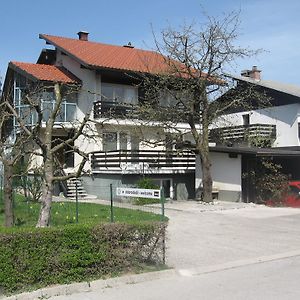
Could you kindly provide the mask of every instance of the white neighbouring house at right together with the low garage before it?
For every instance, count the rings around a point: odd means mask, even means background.
[[[230,77],[238,85],[249,83],[265,92],[272,105],[250,111],[240,108],[222,116],[216,122],[218,129],[212,128],[221,135],[221,141],[211,147],[211,161],[213,186],[223,200],[253,200],[243,173],[257,157],[273,157],[291,179],[300,178],[300,87],[262,80],[260,72],[253,67]],[[201,178],[197,161],[196,188],[201,187]]]

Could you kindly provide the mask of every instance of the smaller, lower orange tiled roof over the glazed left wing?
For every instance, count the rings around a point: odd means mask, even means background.
[[[37,80],[66,84],[80,83],[80,80],[63,67],[12,61],[9,67],[21,70]]]

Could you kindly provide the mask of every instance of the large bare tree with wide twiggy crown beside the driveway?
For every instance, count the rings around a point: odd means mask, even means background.
[[[162,55],[164,72],[143,76],[144,103],[142,119],[159,121],[177,136],[178,123],[188,123],[194,151],[200,156],[203,188],[202,200],[212,201],[209,136],[211,126],[222,114],[239,106],[253,107],[250,100],[258,91],[250,85],[224,94],[229,89],[224,68],[236,59],[255,55],[257,51],[236,46],[239,14],[230,13],[221,20],[207,17],[207,23],[184,25],[180,30],[169,27],[155,37],[156,50]],[[145,62],[146,63],[146,62]],[[264,97],[259,97],[266,102]],[[158,109],[159,107],[159,109]],[[186,133],[186,132],[185,132]],[[199,198],[200,194],[196,197]]]

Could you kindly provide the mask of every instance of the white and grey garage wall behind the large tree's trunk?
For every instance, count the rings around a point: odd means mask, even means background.
[[[242,191],[241,156],[229,157],[228,153],[211,152],[211,173],[213,189],[219,191],[219,199],[240,201]],[[202,170],[199,155],[196,156],[195,187],[202,186]]]

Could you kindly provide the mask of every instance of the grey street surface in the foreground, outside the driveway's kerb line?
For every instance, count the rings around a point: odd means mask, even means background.
[[[53,300],[296,300],[300,257],[247,265],[192,277],[126,284]]]

